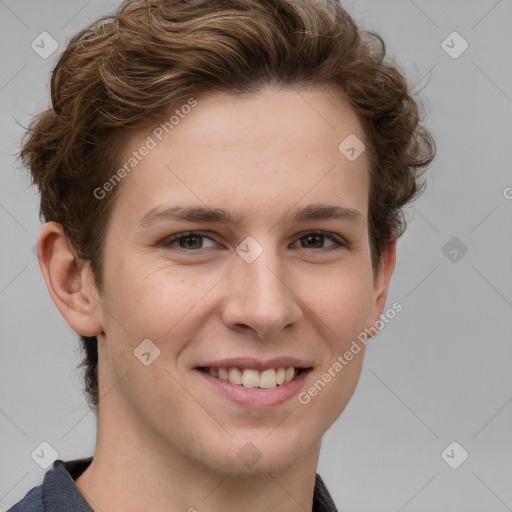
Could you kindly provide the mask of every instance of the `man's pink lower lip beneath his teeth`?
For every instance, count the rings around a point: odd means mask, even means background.
[[[303,386],[311,368],[303,371],[290,382],[275,388],[246,388],[231,382],[212,377],[209,373],[196,370],[222,395],[240,405],[273,406],[279,405],[294,396]]]

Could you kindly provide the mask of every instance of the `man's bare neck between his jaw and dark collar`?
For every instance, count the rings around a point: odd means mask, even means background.
[[[240,474],[192,459],[111,405],[100,402],[94,459],[75,482],[94,512],[312,510],[321,439],[288,467]]]

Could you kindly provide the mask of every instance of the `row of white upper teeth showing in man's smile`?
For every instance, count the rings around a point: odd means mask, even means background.
[[[252,368],[208,368],[212,377],[229,380],[231,384],[243,385],[246,388],[275,388],[290,382],[296,375],[295,368],[269,368],[259,372]]]

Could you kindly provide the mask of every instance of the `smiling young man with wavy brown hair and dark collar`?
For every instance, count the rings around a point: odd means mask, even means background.
[[[384,52],[334,0],[128,1],[71,40],[22,159],[97,446],[13,512],[336,510],[322,436],[434,155]]]

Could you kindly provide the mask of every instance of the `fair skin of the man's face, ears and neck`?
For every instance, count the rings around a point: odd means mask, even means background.
[[[308,404],[297,393],[272,406],[235,403],[197,366],[295,357],[311,367],[304,391],[379,319],[395,243],[374,273],[368,156],[349,161],[338,150],[351,133],[367,140],[339,94],[323,88],[197,99],[116,191],[102,294],[60,226],[41,231],[52,299],[77,333],[98,337],[97,445],[76,485],[102,512],[311,510],[321,439],[352,397],[364,350]],[[121,162],[148,135],[128,140]],[[164,204],[224,208],[243,220],[139,226]],[[361,218],[291,219],[319,204]],[[163,244],[191,230],[207,233]],[[236,252],[248,236],[263,248],[251,263]],[[149,366],[134,355],[145,339],[160,349]],[[261,455],[253,465],[237,456],[248,442]]]

